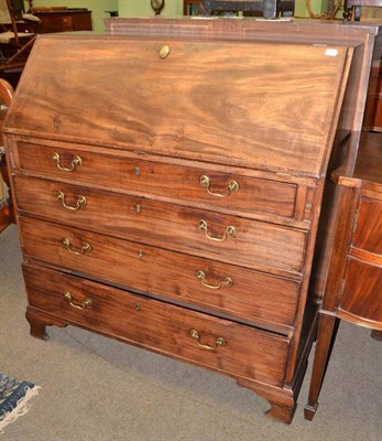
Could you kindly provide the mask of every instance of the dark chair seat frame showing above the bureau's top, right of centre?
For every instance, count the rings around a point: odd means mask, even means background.
[[[214,12],[262,12],[265,19],[275,19],[283,11],[293,12],[294,0],[201,0],[200,11],[204,15]]]

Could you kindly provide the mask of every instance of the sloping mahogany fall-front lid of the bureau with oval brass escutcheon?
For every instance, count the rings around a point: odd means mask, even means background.
[[[44,35],[4,131],[319,176],[351,50],[196,39]]]

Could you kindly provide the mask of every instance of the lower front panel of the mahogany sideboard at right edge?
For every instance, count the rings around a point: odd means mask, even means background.
[[[339,309],[382,325],[382,267],[349,258]]]

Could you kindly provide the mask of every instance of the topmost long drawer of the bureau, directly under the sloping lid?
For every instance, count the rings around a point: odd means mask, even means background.
[[[216,209],[294,216],[295,184],[26,142],[18,143],[18,154],[22,170],[70,183],[157,195],[177,203],[183,200]]]

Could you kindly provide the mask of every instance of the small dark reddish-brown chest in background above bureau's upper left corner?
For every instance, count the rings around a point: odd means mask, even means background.
[[[42,11],[34,9],[34,14],[41,19],[39,32],[74,32],[91,31],[91,11],[86,9],[67,9],[64,11]]]

